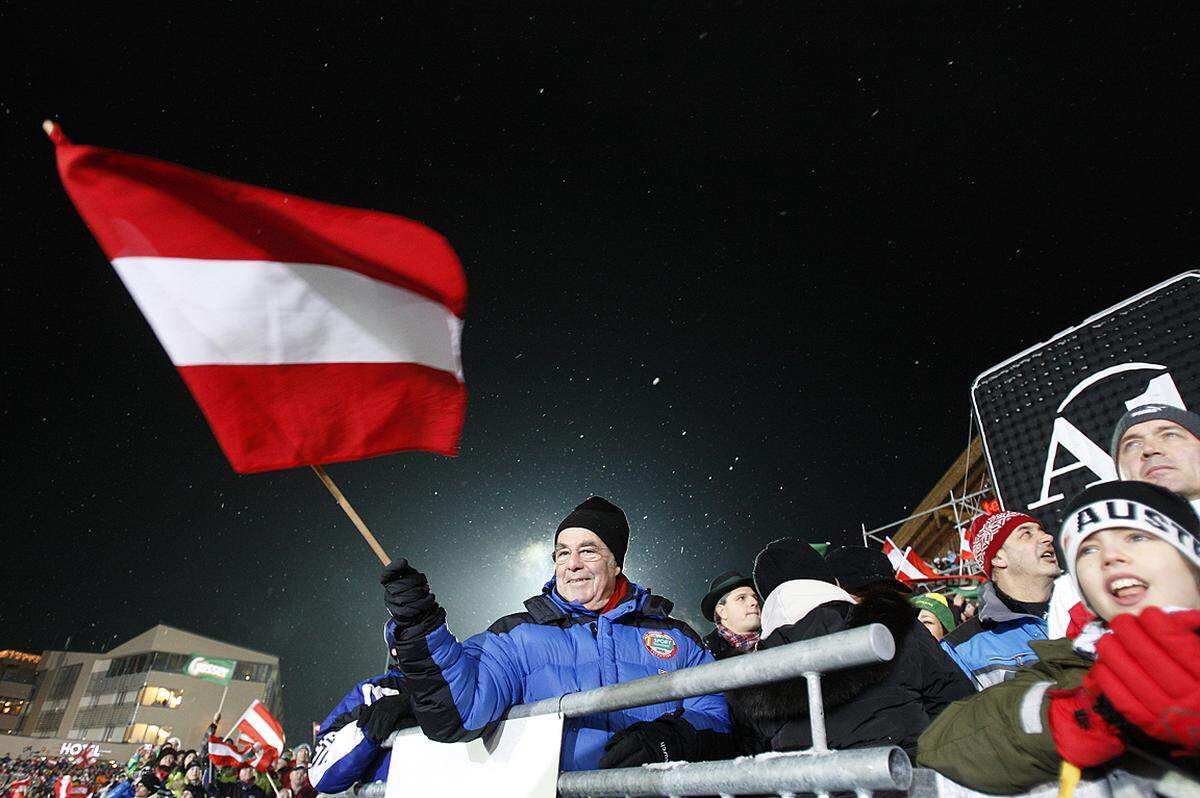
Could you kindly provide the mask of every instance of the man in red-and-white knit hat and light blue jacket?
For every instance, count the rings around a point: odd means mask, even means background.
[[[942,648],[983,690],[1038,660],[1030,643],[1048,637],[1050,590],[1060,569],[1054,538],[1024,512],[977,518],[971,553],[989,581],[974,617],[943,637]]]

